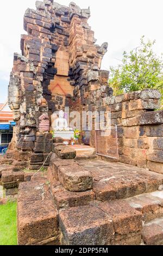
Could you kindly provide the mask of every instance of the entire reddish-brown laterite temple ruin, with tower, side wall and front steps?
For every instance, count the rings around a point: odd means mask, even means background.
[[[0,168],[7,192],[19,190],[20,245],[160,242],[146,223],[163,216],[163,111],[155,111],[161,95],[147,89],[113,96],[109,72],[101,70],[108,44],[96,44],[89,17],[90,9],[53,0],[36,1],[24,15],[27,34],[9,84],[16,126]],[[77,156],[52,137],[52,114],[65,107],[111,113],[108,137],[95,126],[85,131],[91,155]],[[46,177],[25,171],[42,164]]]

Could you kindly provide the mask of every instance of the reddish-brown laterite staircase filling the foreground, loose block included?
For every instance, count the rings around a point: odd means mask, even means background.
[[[163,175],[122,163],[61,160],[18,192],[19,245],[161,245]]]

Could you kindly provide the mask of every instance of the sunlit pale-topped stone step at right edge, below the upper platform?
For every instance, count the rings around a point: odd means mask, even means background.
[[[163,217],[163,191],[141,194],[126,199],[126,202],[143,214],[143,222],[147,223],[155,218]]]

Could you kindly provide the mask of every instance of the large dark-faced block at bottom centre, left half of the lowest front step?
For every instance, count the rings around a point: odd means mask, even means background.
[[[109,245],[114,227],[109,216],[95,205],[60,212],[63,245]]]

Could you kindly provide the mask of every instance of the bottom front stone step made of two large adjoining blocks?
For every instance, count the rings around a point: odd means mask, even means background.
[[[97,202],[59,213],[62,245],[139,245],[142,214],[124,200]]]

